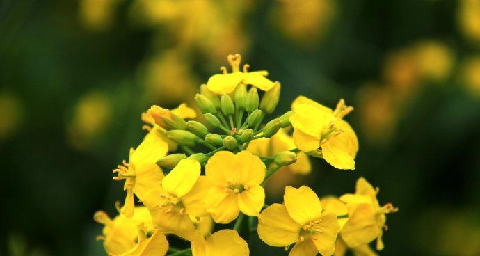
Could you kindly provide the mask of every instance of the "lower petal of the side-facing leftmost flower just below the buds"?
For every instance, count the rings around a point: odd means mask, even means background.
[[[144,205],[157,205],[164,175],[156,163],[143,163],[135,171],[134,193]]]

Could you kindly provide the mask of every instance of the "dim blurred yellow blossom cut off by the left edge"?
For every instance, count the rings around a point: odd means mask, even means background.
[[[22,102],[9,93],[0,93],[0,141],[9,138],[19,127],[23,119]]]

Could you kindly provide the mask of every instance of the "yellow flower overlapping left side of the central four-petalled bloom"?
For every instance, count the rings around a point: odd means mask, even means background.
[[[195,230],[194,221],[207,215],[205,195],[209,184],[205,176],[200,176],[200,163],[182,159],[165,177],[157,172],[146,180],[155,182],[138,198],[150,210],[154,226],[189,239]]]

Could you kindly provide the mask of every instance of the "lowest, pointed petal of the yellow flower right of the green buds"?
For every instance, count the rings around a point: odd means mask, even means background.
[[[321,154],[327,163],[330,163],[331,166],[337,169],[355,169],[355,160],[349,154],[347,145],[337,137],[330,138],[321,145]]]

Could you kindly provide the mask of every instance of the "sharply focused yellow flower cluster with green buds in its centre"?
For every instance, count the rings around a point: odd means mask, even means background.
[[[375,255],[369,243],[376,239],[376,248],[383,248],[386,214],[397,208],[381,206],[378,189],[363,178],[354,194],[339,198],[287,186],[282,204],[265,204],[266,179],[282,167],[307,174],[309,157],[317,157],[355,169],[358,139],[344,120],[353,108],[344,100],[330,109],[298,97],[291,111],[264,124],[278,104],[280,83],[266,71],[249,72],[248,65],[240,70],[238,54],[228,61],[232,72],[222,67],[223,74],[195,96],[206,125],[192,120],[197,114],[186,104],[152,106],[142,114],[148,134],[113,170],[127,194],[117,204],[119,215],[112,220],[103,211],[95,214],[104,224],[99,239],[106,252],[244,256],[249,248],[242,237],[257,232],[289,255],[342,255],[349,248]],[[216,223],[232,228],[214,232]],[[169,246],[175,239],[191,248]]]

